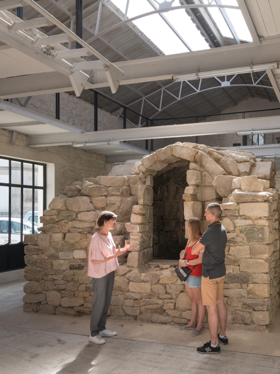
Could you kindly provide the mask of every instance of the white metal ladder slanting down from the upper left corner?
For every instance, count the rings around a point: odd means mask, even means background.
[[[19,21],[19,18],[17,18],[15,15],[13,15],[10,12],[7,12],[7,9],[12,9],[15,7],[30,5],[32,8],[37,10],[43,17],[41,18],[35,18],[35,19],[28,19],[26,21]],[[4,32],[2,30],[1,34],[4,35],[5,42],[7,41],[8,45],[11,45],[8,42],[9,39],[9,33],[15,33],[16,36],[12,37],[14,39],[14,42],[19,44],[21,42],[21,38],[23,39],[27,35],[27,30],[37,28],[37,27],[44,27],[44,26],[50,26],[50,25],[56,25],[60,30],[63,31],[62,34],[59,35],[53,35],[53,36],[46,36],[43,33],[40,33],[37,30],[37,36],[28,36],[28,42],[31,46],[31,49],[34,47],[37,47],[36,54],[45,54],[45,56],[41,56],[44,58],[52,59],[52,62],[56,63],[57,71],[60,71],[62,74],[65,74],[69,76],[69,79],[71,81],[71,85],[75,91],[76,96],[80,96],[81,92],[83,91],[85,87],[85,82],[88,80],[88,76],[86,74],[83,74],[83,70],[94,70],[97,68],[103,68],[105,69],[106,77],[108,79],[110,88],[112,93],[115,93],[118,89],[118,86],[121,82],[122,77],[124,76],[124,73],[122,70],[120,70],[116,65],[112,64],[110,61],[108,61],[105,57],[100,55],[94,48],[92,48],[90,45],[84,42],[80,37],[78,37],[73,31],[69,30],[67,27],[65,27],[61,22],[59,22],[54,16],[52,16],[50,13],[48,13],[45,9],[43,9],[40,5],[35,3],[33,0],[24,0],[24,1],[18,1],[18,0],[2,0],[0,1],[0,11],[3,13],[3,15],[6,16],[7,19],[9,19],[9,22],[6,22],[6,29],[8,33]],[[0,17],[1,17],[0,13]],[[4,21],[2,18],[0,18],[2,21]],[[5,25],[5,23],[1,22],[1,25]],[[3,27],[2,27],[3,29]],[[6,31],[6,30],[5,30]],[[15,35],[14,34],[14,35]],[[55,53],[46,53],[46,51],[42,52],[42,46],[48,47],[50,50],[50,45],[52,44],[59,44],[59,43],[65,43],[75,40],[76,42],[80,43],[82,48],[78,49],[67,49],[63,46],[61,47],[61,50],[57,50]],[[12,43],[13,44],[13,43]],[[27,46],[26,43],[25,47]],[[40,49],[40,52],[38,51]],[[46,56],[47,54],[47,56]],[[78,58],[82,56],[91,56],[94,55],[97,58],[99,58],[98,61],[84,61],[84,62],[74,62],[69,63],[65,61],[65,58]],[[34,54],[33,54],[34,57]],[[65,62],[68,64],[68,66],[65,65]],[[70,65],[70,66],[69,66]],[[53,64],[52,64],[53,66]]]

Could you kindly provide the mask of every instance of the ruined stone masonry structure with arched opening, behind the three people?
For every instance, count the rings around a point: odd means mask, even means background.
[[[169,183],[178,171],[186,178],[178,178],[181,200],[174,183]],[[169,184],[160,191],[158,181],[163,180]],[[183,230],[190,217],[204,218],[208,203],[220,202],[228,233],[224,286],[228,323],[252,331],[270,327],[279,304],[280,265],[273,161],[256,159],[247,151],[178,142],[142,160],[117,165],[108,176],[76,181],[63,193],[65,197],[55,197],[44,211],[41,233],[25,236],[29,282],[24,287],[24,310],[64,315],[91,312],[88,247],[98,229],[97,216],[106,209],[118,214],[112,231],[116,245],[124,245],[125,239],[134,242],[128,255],[119,258],[111,318],[185,324],[191,304],[175,275],[177,261],[168,259],[168,252],[161,258],[156,255],[159,232],[164,234],[177,223],[168,222],[165,210],[158,214],[158,209],[161,204],[172,207],[172,201],[179,207],[181,201]],[[206,229],[208,224],[202,222]],[[170,232],[174,245],[176,233]]]

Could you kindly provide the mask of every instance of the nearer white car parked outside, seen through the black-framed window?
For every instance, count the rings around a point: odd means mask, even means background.
[[[32,234],[32,222],[23,220],[24,235]],[[7,244],[9,240],[9,219],[7,217],[0,217],[0,245]],[[34,234],[38,234],[37,226],[34,225]],[[11,218],[11,243],[19,243],[21,240],[21,219]]]

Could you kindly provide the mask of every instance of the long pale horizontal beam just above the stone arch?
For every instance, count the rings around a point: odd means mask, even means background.
[[[176,138],[196,135],[231,134],[238,131],[279,128],[280,116],[238,120],[224,120],[183,125],[153,126],[87,132],[85,134],[29,135],[28,145],[44,147],[57,144],[81,144],[92,142],[129,141],[143,139]],[[265,130],[264,130],[265,132]]]

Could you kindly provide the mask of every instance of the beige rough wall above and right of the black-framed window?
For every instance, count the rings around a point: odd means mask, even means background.
[[[111,164],[106,164],[105,156],[99,153],[86,153],[84,150],[68,145],[57,147],[30,148],[26,143],[26,135],[18,133],[16,143],[10,143],[11,132],[0,129],[0,155],[24,160],[49,163],[54,165],[55,178],[53,180],[53,166],[47,168],[47,180],[54,182],[54,196],[62,193],[65,186],[75,180],[87,177],[108,175]],[[51,178],[51,179],[50,179]]]

